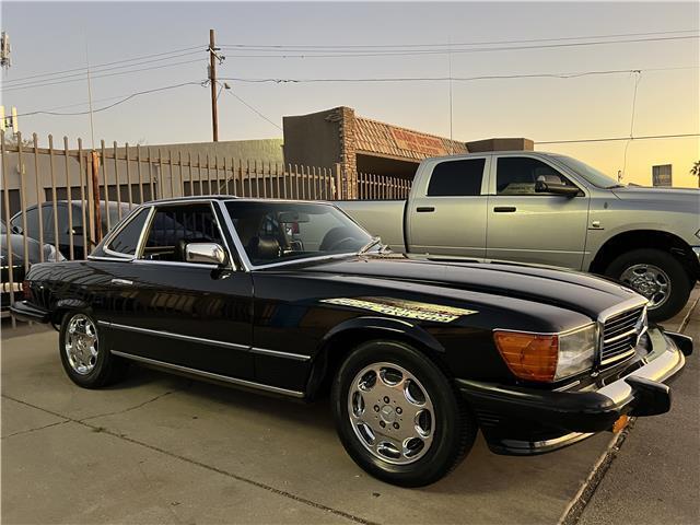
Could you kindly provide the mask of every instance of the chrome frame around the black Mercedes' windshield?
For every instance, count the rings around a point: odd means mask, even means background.
[[[341,213],[342,215],[345,215],[345,218],[352,222],[355,226],[358,226],[358,229],[362,230],[364,233],[366,233],[369,238],[373,238],[373,235],[371,233],[369,233],[362,225],[360,225],[360,223],[358,223],[358,221],[355,221],[354,219],[352,219],[350,215],[348,215],[343,210],[341,210],[339,207],[337,207],[336,205],[334,205],[332,202],[324,202],[324,201],[318,201],[318,200],[290,200],[290,199],[256,199],[256,198],[234,198],[234,199],[220,199],[219,201],[219,209],[221,210],[221,213],[224,218],[224,222],[226,224],[226,228],[230,232],[230,235],[233,240],[233,245],[235,246],[235,249],[237,252],[238,255],[238,259],[243,262],[244,268],[247,271],[253,271],[253,270],[265,270],[267,268],[277,268],[280,266],[290,266],[290,265],[303,265],[306,262],[313,262],[313,261],[319,261],[319,260],[328,260],[328,259],[341,259],[341,258],[348,258],[348,257],[352,257],[352,256],[358,256],[360,255],[358,250],[352,250],[352,252],[342,252],[342,253],[337,253],[337,254],[324,254],[324,255],[312,255],[308,257],[300,257],[300,258],[294,258],[294,259],[289,259],[289,260],[280,260],[277,262],[267,262],[264,265],[255,265],[253,264],[253,261],[250,260],[250,258],[248,257],[247,252],[245,250],[245,247],[243,246],[243,242],[241,241],[241,237],[238,236],[238,232],[233,223],[233,220],[231,219],[231,214],[229,213],[229,208],[228,208],[228,203],[229,202],[270,202],[270,203],[295,203],[295,205],[315,205],[315,206],[327,206],[329,208],[332,208],[334,210],[338,211],[339,213]],[[378,248],[382,247],[381,243],[377,243],[376,245]],[[371,254],[372,252],[368,252],[365,254],[362,255],[368,255]],[[233,254],[232,254],[233,255]]]

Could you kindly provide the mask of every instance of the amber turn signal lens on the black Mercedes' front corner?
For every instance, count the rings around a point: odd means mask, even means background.
[[[505,364],[517,377],[553,381],[559,358],[558,336],[497,330],[493,339]]]

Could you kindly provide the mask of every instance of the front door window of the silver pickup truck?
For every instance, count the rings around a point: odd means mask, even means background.
[[[497,195],[535,195],[535,183],[538,180],[575,187],[557,170],[537,159],[503,156],[498,160]]]

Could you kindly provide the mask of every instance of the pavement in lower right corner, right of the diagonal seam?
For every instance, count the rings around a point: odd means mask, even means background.
[[[698,289],[696,289],[696,296]],[[668,324],[668,329],[676,326]],[[688,312],[685,332],[696,353],[673,384],[673,409],[640,418],[579,518],[608,523],[700,523],[700,306]]]

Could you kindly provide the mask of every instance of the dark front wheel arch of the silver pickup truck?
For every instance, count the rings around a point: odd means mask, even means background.
[[[640,248],[668,252],[682,264],[691,280],[700,278],[700,262],[693,256],[690,245],[678,235],[663,230],[628,230],[614,235],[600,246],[588,271],[603,275],[619,255]]]

